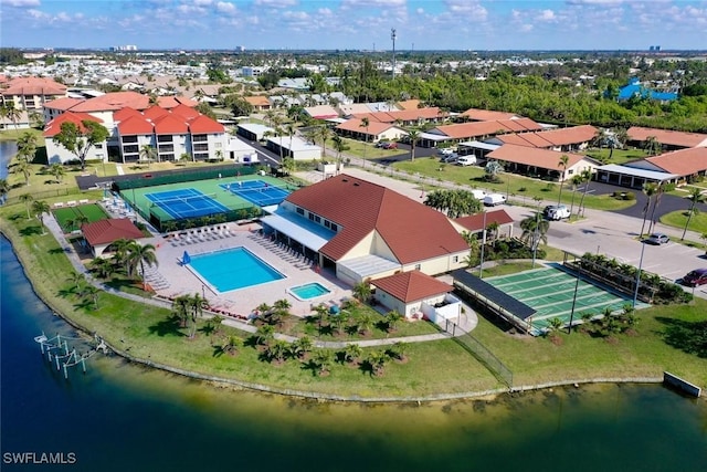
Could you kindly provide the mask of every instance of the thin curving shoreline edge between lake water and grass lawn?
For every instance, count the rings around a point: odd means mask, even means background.
[[[83,335],[92,336],[93,333],[91,333],[87,328],[85,328],[81,324],[76,323],[71,317],[66,316],[60,310],[56,310],[55,306],[53,306],[53,304],[51,303],[51,300],[46,300],[46,297],[44,297],[40,292],[36,291],[35,285],[34,285],[35,281],[33,280],[31,272],[28,270],[27,261],[23,261],[22,255],[18,251],[15,251],[13,239],[11,238],[10,234],[8,234],[8,232],[3,228],[0,228],[0,234],[2,234],[4,238],[7,238],[8,241],[10,242],[10,247],[12,248],[12,252],[18,258],[18,261],[20,262],[20,265],[22,266],[23,273],[25,274],[25,276],[30,281],[30,285],[32,287],[32,291],[42,301],[42,303],[44,303],[55,314],[55,316],[61,317],[70,326],[72,326],[73,328],[77,329]],[[428,395],[428,396],[420,396],[420,397],[413,397],[413,396],[404,396],[404,397],[384,397],[384,396],[383,397],[381,397],[381,396],[362,397],[362,396],[356,396],[356,395],[342,396],[342,395],[325,394],[325,392],[317,392],[317,391],[287,389],[287,388],[283,388],[283,387],[273,387],[273,386],[267,386],[267,385],[264,385],[264,384],[249,382],[249,381],[240,380],[240,379],[236,379],[236,378],[225,378],[225,377],[219,377],[219,376],[202,374],[202,373],[194,371],[194,370],[182,369],[182,368],[177,367],[177,366],[171,366],[171,365],[161,364],[161,363],[155,363],[155,361],[149,360],[149,359],[145,359],[145,358],[141,358],[141,357],[133,356],[133,355],[128,354],[127,352],[124,352],[122,349],[118,349],[118,348],[114,347],[114,345],[112,343],[107,342],[107,340],[105,340],[105,343],[110,348],[110,350],[113,353],[115,353],[115,355],[119,356],[120,358],[123,358],[124,360],[126,360],[128,363],[137,364],[137,365],[139,365],[141,367],[145,367],[145,368],[154,368],[154,369],[158,369],[158,370],[161,370],[161,371],[179,375],[179,376],[182,376],[182,377],[192,378],[192,379],[201,380],[201,381],[204,381],[204,382],[211,382],[211,384],[215,384],[215,385],[220,385],[220,386],[226,386],[226,387],[230,387],[230,388],[240,388],[240,389],[250,390],[250,391],[254,391],[254,392],[274,394],[274,395],[281,395],[281,396],[285,396],[285,397],[293,397],[293,398],[300,398],[300,399],[308,399],[308,400],[317,400],[317,401],[333,401],[333,402],[421,403],[421,402],[464,400],[464,399],[475,399],[475,398],[477,399],[477,398],[484,398],[484,397],[489,397],[489,396],[490,397],[495,397],[495,396],[504,395],[504,394],[514,395],[514,394],[523,394],[523,392],[526,392],[526,391],[544,390],[544,389],[549,389],[549,388],[555,388],[555,387],[571,387],[571,386],[579,387],[581,385],[591,385],[591,384],[662,384],[663,382],[663,378],[662,377],[626,377],[626,378],[621,378],[621,377],[597,377],[597,378],[581,378],[581,379],[563,379],[563,380],[540,382],[540,384],[536,384],[536,385],[521,385],[521,386],[514,386],[514,387],[509,387],[509,388],[497,388],[497,389],[488,389],[488,390],[481,390],[481,391],[463,391],[463,392],[454,392],[454,394],[452,394],[452,392],[440,392],[440,394],[435,394],[435,395]]]

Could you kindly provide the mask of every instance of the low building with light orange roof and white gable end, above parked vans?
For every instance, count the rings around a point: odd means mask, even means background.
[[[568,157],[566,169],[559,165],[562,156]],[[583,170],[590,170],[593,174],[601,166],[598,160],[579,154],[559,153],[514,144],[505,144],[488,153],[486,157],[489,160],[495,159],[500,162],[506,171],[553,180],[571,179],[572,176],[579,175]]]

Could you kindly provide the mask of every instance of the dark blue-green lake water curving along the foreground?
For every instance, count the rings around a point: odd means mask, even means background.
[[[1,256],[2,471],[698,471],[707,402],[661,386],[360,406],[233,391],[96,356],[68,380],[33,337],[76,336]],[[73,342],[81,348],[81,342]],[[70,453],[12,465],[7,453]]]

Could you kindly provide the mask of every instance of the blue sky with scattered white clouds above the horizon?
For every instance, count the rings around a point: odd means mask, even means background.
[[[707,50],[707,0],[0,0],[0,45]]]

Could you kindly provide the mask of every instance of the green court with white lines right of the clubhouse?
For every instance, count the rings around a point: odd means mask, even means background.
[[[610,292],[584,279],[580,279],[578,284],[574,275],[559,268],[546,266],[511,275],[487,277],[484,281],[536,310],[531,325],[538,332],[548,327],[552,318],[568,324],[570,317],[577,322],[585,313],[595,316],[608,307],[620,311],[626,303],[633,303],[630,296]],[[648,305],[636,304],[636,308],[645,306]]]

